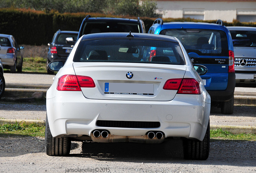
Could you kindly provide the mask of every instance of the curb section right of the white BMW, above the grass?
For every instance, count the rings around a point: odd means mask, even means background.
[[[229,131],[232,134],[239,133],[252,133],[256,134],[256,127],[253,126],[223,126],[223,125],[210,125],[211,130],[222,129],[223,131]]]

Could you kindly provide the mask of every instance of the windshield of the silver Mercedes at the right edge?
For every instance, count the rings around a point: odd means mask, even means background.
[[[233,46],[256,47],[256,31],[230,31]]]

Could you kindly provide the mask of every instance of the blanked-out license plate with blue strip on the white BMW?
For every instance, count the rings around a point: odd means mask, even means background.
[[[154,84],[105,82],[105,94],[154,95]]]

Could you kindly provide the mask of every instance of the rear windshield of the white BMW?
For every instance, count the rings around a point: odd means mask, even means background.
[[[185,64],[178,43],[136,38],[83,40],[74,62]]]

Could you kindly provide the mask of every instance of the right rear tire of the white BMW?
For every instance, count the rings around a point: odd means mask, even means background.
[[[210,121],[203,141],[197,139],[184,139],[184,159],[206,160],[210,151]]]

